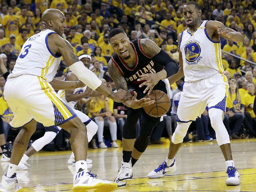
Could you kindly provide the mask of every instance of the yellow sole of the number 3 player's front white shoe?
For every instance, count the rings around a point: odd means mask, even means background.
[[[76,186],[73,187],[73,191],[74,192],[85,192],[88,190],[92,190],[92,189],[96,189],[94,190],[94,192],[110,192],[110,191],[114,191],[117,188],[117,184],[116,183],[98,183],[95,186]]]

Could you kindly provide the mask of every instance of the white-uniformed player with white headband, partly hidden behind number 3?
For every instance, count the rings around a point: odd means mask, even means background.
[[[90,55],[83,54],[79,56],[78,59],[80,59],[84,63],[84,66],[86,68],[90,67],[90,63],[92,60]],[[78,78],[69,70],[67,72],[67,75],[64,81],[76,82],[78,81]],[[88,88],[87,86],[82,88],[76,88],[76,89],[59,90],[57,94],[65,103],[68,104],[68,106],[76,113],[77,117],[79,117],[81,121],[84,123],[84,125],[87,128],[88,142],[90,142],[92,140],[92,137],[96,134],[98,130],[98,125],[94,121],[92,121],[90,117],[85,115],[83,112],[74,109],[74,107],[78,100],[83,99],[86,96],[101,96],[101,94],[99,92],[93,92],[93,90]],[[29,157],[34,153],[40,151],[45,145],[50,143],[57,136],[60,130],[61,128],[59,126],[58,127],[51,126],[51,127],[45,128],[44,136],[32,143],[32,145],[28,148],[26,153],[24,153],[24,155],[22,156],[17,169],[27,170],[28,169],[27,160],[29,159]],[[87,164],[90,164],[92,163],[92,160],[86,159],[86,162]],[[68,159],[68,164],[74,164],[74,163],[75,163],[75,156],[74,156],[74,153],[72,152]]]

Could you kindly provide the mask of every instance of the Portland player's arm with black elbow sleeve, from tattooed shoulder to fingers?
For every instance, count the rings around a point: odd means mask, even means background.
[[[140,84],[140,87],[147,85],[147,88],[143,92],[146,93],[149,90],[148,92],[150,93],[160,80],[166,79],[177,73],[179,67],[175,60],[173,60],[164,50],[160,49],[154,41],[150,39],[141,39],[140,46],[145,54],[164,66],[164,70],[161,70],[156,74],[147,73],[140,75],[141,78],[138,79],[138,81],[146,80]]]

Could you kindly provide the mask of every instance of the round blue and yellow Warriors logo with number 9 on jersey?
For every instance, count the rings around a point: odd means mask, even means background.
[[[189,42],[185,46],[185,57],[188,65],[196,65],[202,57],[200,56],[201,48],[196,42]]]

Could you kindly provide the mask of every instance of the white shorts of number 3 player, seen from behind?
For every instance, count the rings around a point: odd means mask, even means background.
[[[54,91],[50,83],[34,75],[9,78],[4,99],[13,111],[12,127],[21,127],[32,119],[45,127],[58,126],[76,117],[76,113]]]

